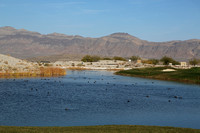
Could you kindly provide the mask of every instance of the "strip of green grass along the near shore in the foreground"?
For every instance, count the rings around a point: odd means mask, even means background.
[[[0,133],[200,133],[199,129],[158,126],[7,127]]]

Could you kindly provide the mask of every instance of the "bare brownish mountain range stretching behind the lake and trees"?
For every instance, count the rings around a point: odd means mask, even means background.
[[[200,40],[149,42],[127,33],[114,33],[100,38],[68,36],[59,33],[42,35],[12,27],[0,28],[0,53],[18,58],[85,54],[100,56],[141,56],[161,58],[170,56],[177,60],[200,58]]]

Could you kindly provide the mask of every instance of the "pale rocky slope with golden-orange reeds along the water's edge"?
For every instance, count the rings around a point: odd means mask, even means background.
[[[66,70],[0,54],[0,78],[62,76]]]

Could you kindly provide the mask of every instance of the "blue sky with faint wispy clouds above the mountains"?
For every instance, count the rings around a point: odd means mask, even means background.
[[[200,39],[200,0],[0,0],[0,26],[84,37]]]

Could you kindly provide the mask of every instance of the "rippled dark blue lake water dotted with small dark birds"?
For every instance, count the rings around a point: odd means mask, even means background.
[[[0,125],[158,125],[200,129],[200,86],[67,71],[0,79]]]

